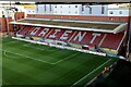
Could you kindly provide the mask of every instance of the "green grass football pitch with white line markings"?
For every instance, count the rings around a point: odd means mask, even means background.
[[[4,38],[3,85],[85,85],[116,59]]]

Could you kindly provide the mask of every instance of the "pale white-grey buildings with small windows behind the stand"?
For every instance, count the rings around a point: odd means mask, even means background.
[[[51,10],[50,10],[51,9]],[[92,10],[91,10],[92,9]],[[36,14],[57,15],[100,15],[129,16],[131,12],[126,8],[111,8],[108,4],[36,4]],[[104,10],[104,11],[103,11]],[[103,11],[103,12],[102,12]],[[121,14],[120,14],[121,11]],[[112,12],[112,14],[110,14]]]

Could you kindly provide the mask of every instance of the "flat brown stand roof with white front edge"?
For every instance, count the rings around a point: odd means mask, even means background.
[[[117,33],[120,29],[124,29],[126,23],[102,23],[102,22],[87,22],[87,21],[67,21],[67,20],[36,20],[25,18],[12,24],[34,25],[44,27],[56,27],[56,28],[69,28],[80,30],[93,30],[93,32],[107,32]],[[121,26],[122,25],[122,26]]]

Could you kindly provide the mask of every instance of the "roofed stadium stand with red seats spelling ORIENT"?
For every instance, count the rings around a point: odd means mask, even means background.
[[[11,24],[25,25],[23,37],[47,44],[69,46],[79,49],[119,54],[124,45],[127,23],[75,21],[58,18],[33,18],[27,17],[11,22]],[[25,28],[25,29],[26,29]],[[29,27],[28,27],[29,28]],[[21,32],[21,30],[20,30]],[[27,33],[26,33],[27,32]]]

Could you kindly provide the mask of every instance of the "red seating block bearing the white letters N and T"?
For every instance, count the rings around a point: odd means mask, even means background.
[[[82,37],[79,37],[78,35],[81,35]],[[103,39],[104,34],[93,33],[93,32],[80,32],[78,30],[74,38],[71,39],[71,42],[75,44],[83,44],[87,46],[98,46],[100,40]]]

